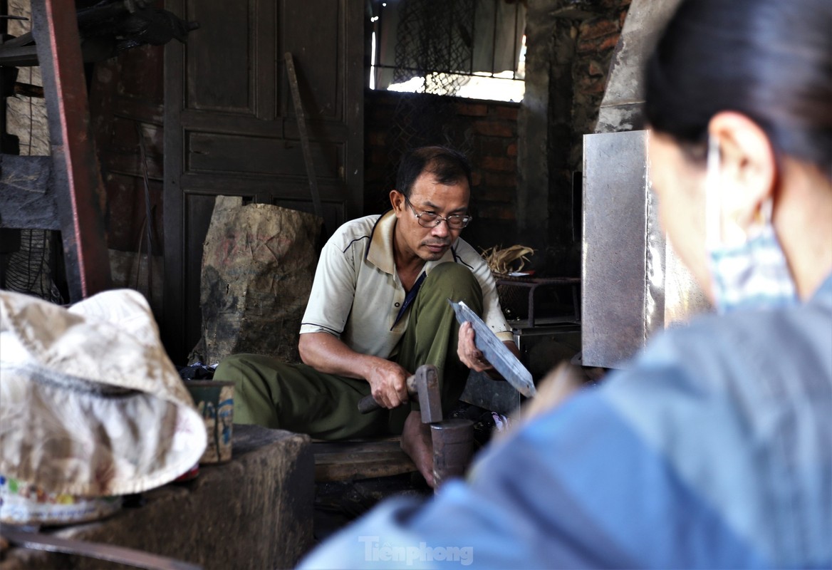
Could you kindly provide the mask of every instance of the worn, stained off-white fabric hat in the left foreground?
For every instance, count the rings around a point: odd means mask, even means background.
[[[141,294],[106,291],[66,309],[0,291],[0,474],[52,493],[140,493],[205,448]]]

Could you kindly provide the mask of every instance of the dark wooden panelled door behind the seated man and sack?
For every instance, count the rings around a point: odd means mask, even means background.
[[[363,211],[360,0],[167,0],[199,22],[165,55],[165,308],[177,364],[201,335],[202,243],[215,196],[313,211],[284,53],[300,84],[328,227]]]

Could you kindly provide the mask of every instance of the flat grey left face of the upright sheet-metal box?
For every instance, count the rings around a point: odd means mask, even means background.
[[[585,135],[582,359],[612,367],[646,338],[646,131]]]

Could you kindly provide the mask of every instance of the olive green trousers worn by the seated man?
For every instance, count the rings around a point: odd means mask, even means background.
[[[411,373],[422,364],[437,367],[446,414],[468,379],[468,368],[457,356],[459,327],[448,299],[462,300],[483,314],[483,291],[471,271],[457,263],[438,265],[409,308],[408,327],[393,358]],[[418,409],[404,405],[360,414],[359,400],[370,393],[366,380],[323,374],[306,364],[288,364],[260,354],[224,359],[214,379],[235,383],[235,424],[287,429],[317,439],[401,434],[404,419],[411,409]]]

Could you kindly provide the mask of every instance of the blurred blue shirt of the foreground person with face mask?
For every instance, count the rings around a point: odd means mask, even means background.
[[[706,315],[304,568],[832,568],[832,275]]]

